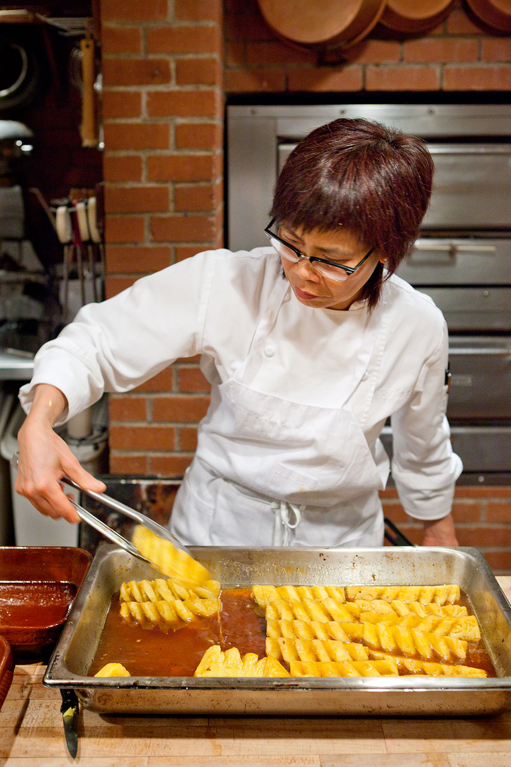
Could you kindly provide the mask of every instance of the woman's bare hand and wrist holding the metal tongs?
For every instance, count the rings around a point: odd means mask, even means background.
[[[69,476],[80,486],[96,492],[104,492],[106,486],[80,466],[64,439],[54,432],[53,424],[66,407],[66,397],[60,390],[49,384],[37,387],[31,411],[18,432],[15,491],[25,495],[41,514],[80,522],[64,494],[62,477]]]

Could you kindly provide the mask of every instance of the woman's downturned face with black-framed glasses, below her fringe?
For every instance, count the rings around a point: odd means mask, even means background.
[[[301,226],[293,229],[281,224],[279,236],[303,255],[326,258],[351,267],[361,262],[368,251],[349,229],[342,226],[339,226],[339,231],[319,232],[313,229],[312,232],[303,232]],[[313,264],[303,258],[296,263],[281,258],[284,274],[300,304],[316,309],[339,310],[348,309],[359,298],[378,261],[383,263],[384,259],[378,258],[377,252],[374,252],[346,280],[336,282],[321,275]]]

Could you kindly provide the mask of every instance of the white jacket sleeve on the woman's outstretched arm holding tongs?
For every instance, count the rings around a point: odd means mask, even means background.
[[[30,410],[37,384],[52,384],[67,397],[64,423],[105,391],[143,384],[178,357],[201,349],[208,285],[214,259],[208,252],[141,278],[101,304],[87,304],[76,319],[34,358],[34,375],[19,399]]]

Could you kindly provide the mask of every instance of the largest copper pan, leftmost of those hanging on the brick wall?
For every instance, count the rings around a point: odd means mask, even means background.
[[[258,0],[280,38],[307,48],[348,48],[378,23],[386,0]]]

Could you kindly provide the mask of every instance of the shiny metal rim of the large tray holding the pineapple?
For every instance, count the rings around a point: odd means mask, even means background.
[[[197,555],[200,560],[201,552],[218,551],[225,549],[225,551],[251,551],[253,553],[266,551],[290,551],[289,548],[283,547],[257,547],[251,548],[247,546],[195,546],[190,547],[192,553]],[[417,553],[417,547],[414,546],[400,546],[399,551],[411,551]],[[496,581],[490,566],[487,564],[486,559],[478,548],[475,547],[438,547],[438,546],[421,546],[420,550],[426,554],[428,551],[434,551],[435,554],[441,554],[442,551],[456,552],[460,555],[472,557],[477,561],[477,568],[483,571],[483,575],[486,578],[490,591],[496,600],[497,606],[503,613],[506,622],[511,631],[511,604],[506,599],[506,595],[500,588],[500,585]],[[96,555],[87,571],[84,581],[81,585],[80,591],[75,598],[73,607],[67,616],[67,620],[64,624],[61,636],[57,641],[57,645],[54,648],[51,658],[47,663],[47,669],[44,673],[43,684],[48,687],[67,688],[74,690],[90,689],[90,690],[365,690],[365,691],[393,691],[403,690],[413,693],[424,692],[427,690],[442,692],[454,692],[473,690],[480,692],[496,692],[496,691],[508,691],[511,690],[511,676],[497,676],[497,677],[455,677],[455,676],[342,676],[342,677],[314,677],[314,676],[296,676],[296,677],[277,677],[277,678],[254,678],[254,677],[195,677],[195,676],[123,676],[123,677],[95,677],[84,676],[74,673],[67,669],[64,663],[65,650],[69,644],[71,637],[74,634],[77,621],[80,618],[81,611],[84,604],[89,597],[88,586],[90,582],[94,581],[97,571],[100,569],[103,560],[113,553],[113,551],[121,551],[113,544],[101,544],[97,549]],[[345,548],[345,547],[326,547],[326,546],[311,546],[300,547],[298,551],[307,553],[321,552],[328,554],[335,554],[336,552],[342,552],[342,555],[360,554],[361,552],[375,552],[375,551],[391,551],[388,546],[382,547],[360,547],[360,548]],[[124,553],[124,552],[123,552]],[[126,555],[127,558],[133,559],[130,555]],[[374,585],[374,583],[357,584],[357,585]],[[65,673],[64,673],[65,672]],[[416,682],[415,684],[411,683]]]

